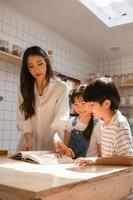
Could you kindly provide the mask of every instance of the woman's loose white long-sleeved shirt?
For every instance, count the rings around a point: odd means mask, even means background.
[[[36,84],[34,92],[35,115],[28,120],[19,109],[22,103],[22,96],[19,96],[17,126],[23,133],[33,134],[34,150],[51,150],[53,133],[62,133],[69,117],[68,88],[65,82],[55,78],[50,80],[41,96]]]

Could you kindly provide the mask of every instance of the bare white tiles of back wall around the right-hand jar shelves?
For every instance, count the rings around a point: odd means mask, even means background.
[[[128,73],[133,73],[133,56],[128,57],[119,57],[110,60],[98,60],[97,70],[100,72],[100,75],[123,75]],[[121,81],[121,78],[120,80]],[[127,80],[126,80],[127,81]],[[119,83],[120,84],[120,83]],[[121,83],[122,84],[122,83]],[[119,89],[121,96],[126,97],[126,103],[129,102],[129,96],[133,96],[133,87],[125,87]],[[133,117],[133,109],[131,107],[121,107],[122,113],[124,113],[129,121],[133,132],[133,123],[130,123],[130,118]]]

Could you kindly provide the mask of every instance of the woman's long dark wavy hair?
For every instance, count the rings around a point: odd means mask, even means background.
[[[46,62],[46,79],[49,82],[53,78],[53,71],[49,62],[49,58],[45,51],[38,46],[32,46],[26,49],[23,55],[22,68],[20,74],[20,92],[23,97],[23,102],[20,109],[23,111],[25,119],[30,118],[35,114],[35,95],[34,83],[35,79],[29,72],[27,61],[29,56],[41,56]]]

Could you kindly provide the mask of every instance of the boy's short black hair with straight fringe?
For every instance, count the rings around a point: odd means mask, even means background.
[[[98,102],[100,105],[108,99],[110,100],[110,110],[119,108],[120,95],[118,89],[111,78],[102,77],[91,81],[86,87],[83,95],[84,101]]]

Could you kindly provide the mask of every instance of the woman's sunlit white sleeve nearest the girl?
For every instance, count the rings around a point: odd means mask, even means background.
[[[68,87],[65,82],[58,86],[58,99],[55,105],[55,118],[51,124],[53,131],[62,133],[69,118]]]

